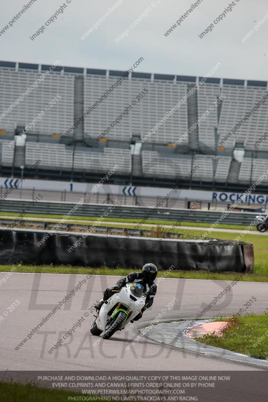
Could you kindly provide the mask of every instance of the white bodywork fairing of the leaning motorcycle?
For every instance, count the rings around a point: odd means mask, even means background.
[[[127,319],[122,326],[122,328],[125,328],[130,320],[135,318],[140,313],[141,309],[145,306],[146,296],[134,296],[131,291],[131,285],[132,283],[127,283],[126,286],[122,287],[120,292],[113,294],[107,300],[107,302],[103,304],[96,320],[97,328],[100,331],[105,331],[107,320],[112,315],[115,315],[116,317],[119,311],[124,311],[127,313]],[[108,315],[109,312],[110,316]]]

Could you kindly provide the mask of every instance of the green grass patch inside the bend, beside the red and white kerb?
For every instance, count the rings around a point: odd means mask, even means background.
[[[222,336],[215,336],[213,333],[195,340],[257,359],[268,360],[268,311],[264,315],[248,314],[217,321],[230,323],[230,326],[223,330]]]

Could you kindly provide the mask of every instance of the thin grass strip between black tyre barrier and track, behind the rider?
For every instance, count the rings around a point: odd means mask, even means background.
[[[16,268],[16,272],[32,272],[32,273],[65,273],[65,274],[93,274],[93,275],[116,275],[116,276],[126,276],[129,274],[130,269],[128,268],[84,268],[84,267],[71,267],[71,266],[35,266],[35,265],[0,265],[1,272],[10,272],[12,268]],[[166,267],[168,269],[168,266]],[[161,275],[162,272],[162,275]],[[207,271],[181,271],[173,270],[169,273],[160,271],[158,278],[184,278],[184,279],[211,279],[211,280],[238,280],[242,282],[268,282],[268,276],[265,275],[254,275],[254,274],[241,274],[238,272],[207,272]],[[0,278],[1,279],[1,278]]]

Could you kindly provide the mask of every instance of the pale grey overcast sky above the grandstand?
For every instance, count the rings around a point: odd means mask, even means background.
[[[34,35],[63,5],[63,0],[36,2],[0,36],[0,60],[117,69],[129,68],[139,57],[140,72],[180,75],[205,75],[220,62],[218,77],[268,79],[268,4],[267,0],[235,0],[232,12],[214,24],[203,39],[198,36],[232,2],[203,0],[168,36],[164,33],[195,3],[195,0],[119,0],[122,2],[84,40],[81,36],[107,13],[117,0],[65,0],[65,9]],[[70,2],[69,4],[67,2]],[[2,0],[0,32],[29,0]],[[64,7],[64,6],[63,6]],[[148,9],[151,7],[150,9]],[[143,13],[138,26],[129,29]],[[267,15],[267,20],[245,42],[241,39]],[[123,31],[129,34],[119,43]]]

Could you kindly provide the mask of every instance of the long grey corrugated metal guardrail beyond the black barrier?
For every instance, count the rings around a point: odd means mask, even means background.
[[[0,200],[0,211],[17,213],[25,211],[26,213],[34,214],[65,215],[68,214],[75,205],[75,203],[39,201],[33,208],[33,202],[30,200],[4,199]],[[107,204],[83,204],[73,215],[101,217],[107,213],[108,206]],[[220,211],[115,206],[113,211],[109,212],[108,218],[133,218],[141,221],[144,219],[164,221],[182,220],[184,222],[212,224],[216,222],[221,215],[222,212]],[[251,212],[230,212],[220,223],[227,225],[249,225],[256,215],[258,214]]]

